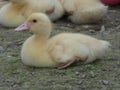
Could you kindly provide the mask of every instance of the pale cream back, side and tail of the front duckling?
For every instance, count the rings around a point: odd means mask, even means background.
[[[56,60],[64,62],[77,56],[87,58],[85,63],[89,63],[102,57],[109,50],[110,44],[87,35],[66,33],[51,38],[49,46]]]

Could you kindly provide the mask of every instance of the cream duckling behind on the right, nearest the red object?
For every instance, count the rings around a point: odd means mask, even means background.
[[[100,0],[60,0],[69,19],[76,24],[94,23],[106,15],[108,6]]]

